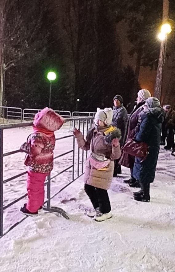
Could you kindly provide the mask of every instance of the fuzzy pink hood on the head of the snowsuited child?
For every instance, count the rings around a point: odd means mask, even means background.
[[[34,126],[44,128],[49,131],[55,131],[62,127],[64,118],[51,108],[44,108],[38,112],[34,118]]]

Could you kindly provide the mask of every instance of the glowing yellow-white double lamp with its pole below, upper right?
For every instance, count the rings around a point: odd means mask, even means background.
[[[160,33],[158,34],[158,38],[161,40],[161,45],[154,96],[157,97],[160,101],[162,93],[163,66],[165,63],[166,56],[167,37],[171,32],[172,32],[171,25],[168,22],[165,22],[164,24],[161,25]]]

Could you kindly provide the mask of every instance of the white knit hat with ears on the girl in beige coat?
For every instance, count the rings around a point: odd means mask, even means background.
[[[112,108],[97,108],[97,112],[94,116],[94,119],[101,120],[105,125],[109,126],[112,122],[113,110]]]

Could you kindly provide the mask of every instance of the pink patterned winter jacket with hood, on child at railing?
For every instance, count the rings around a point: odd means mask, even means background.
[[[21,152],[27,153],[25,165],[35,173],[50,173],[54,164],[54,131],[62,127],[64,119],[52,109],[44,108],[34,118],[34,132],[22,144]]]

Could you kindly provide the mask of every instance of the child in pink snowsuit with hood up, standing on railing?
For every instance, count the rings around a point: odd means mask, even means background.
[[[22,144],[26,152],[28,201],[20,208],[22,214],[37,216],[44,202],[44,182],[54,164],[54,131],[62,127],[64,119],[50,108],[44,108],[34,118],[33,133]]]

